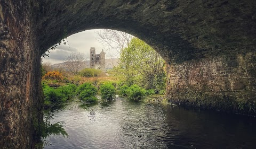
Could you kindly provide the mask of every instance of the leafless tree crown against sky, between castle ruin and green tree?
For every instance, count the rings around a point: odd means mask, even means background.
[[[129,45],[131,38],[133,37],[129,33],[110,29],[103,29],[101,31],[96,31],[95,33],[99,36],[96,39],[106,47],[106,50],[114,49],[117,54],[120,54],[121,50]]]

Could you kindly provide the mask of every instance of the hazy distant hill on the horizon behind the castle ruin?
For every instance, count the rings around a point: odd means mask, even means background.
[[[65,63],[68,63],[68,62],[53,64],[53,65],[51,65],[51,67],[52,67],[52,69],[66,69]],[[84,63],[83,64],[84,67],[82,67],[82,69],[90,67],[89,60],[86,60],[83,63]],[[118,58],[107,58],[107,59],[105,59],[105,63],[106,63],[106,69],[111,69],[118,65],[119,59]]]

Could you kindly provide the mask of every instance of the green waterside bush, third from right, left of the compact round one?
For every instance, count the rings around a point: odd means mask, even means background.
[[[78,94],[79,99],[87,103],[93,103],[97,101],[97,98],[95,97],[97,94],[97,89],[90,83],[79,85],[77,87],[76,93]]]

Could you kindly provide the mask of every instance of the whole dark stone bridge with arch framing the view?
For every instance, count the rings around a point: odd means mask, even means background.
[[[166,60],[166,98],[255,114],[256,1],[1,0],[0,148],[35,148],[41,55],[89,29],[124,31]]]

